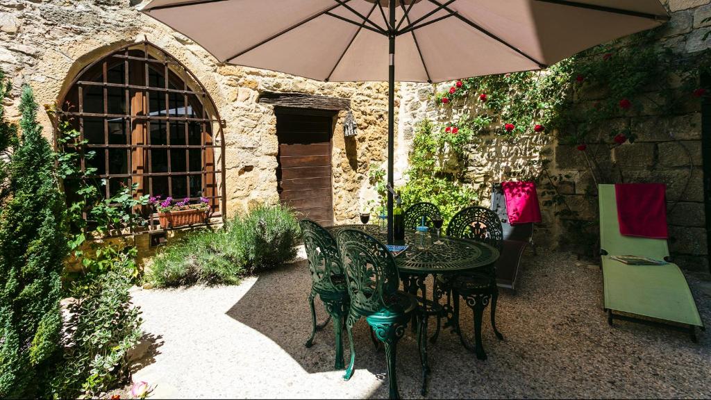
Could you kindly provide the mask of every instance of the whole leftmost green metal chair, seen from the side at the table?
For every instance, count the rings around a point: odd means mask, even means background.
[[[343,369],[343,319],[348,313],[351,301],[346,288],[346,275],[343,275],[341,258],[338,257],[336,240],[324,227],[310,219],[299,221],[301,235],[304,238],[306,257],[309,258],[311,271],[311,293],[309,307],[311,308],[311,337],[306,341],[306,347],[314,344],[316,330],[323,329],[328,320],[333,319],[333,333],[336,335],[336,369]],[[321,298],[328,312],[328,319],[323,324],[316,324],[316,296]]]

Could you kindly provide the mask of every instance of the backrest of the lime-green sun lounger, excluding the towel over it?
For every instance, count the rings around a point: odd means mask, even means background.
[[[614,184],[598,185],[600,205],[600,248],[611,256],[644,256],[663,259],[669,256],[665,239],[623,236],[617,219]]]

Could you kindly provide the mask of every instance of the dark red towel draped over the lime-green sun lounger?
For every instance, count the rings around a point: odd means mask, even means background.
[[[643,238],[668,238],[665,192],[665,184],[615,184],[620,233]]]

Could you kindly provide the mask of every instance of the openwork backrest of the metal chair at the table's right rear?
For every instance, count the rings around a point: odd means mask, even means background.
[[[447,236],[471,239],[501,250],[503,228],[495,212],[483,207],[467,207],[454,214],[447,224]]]

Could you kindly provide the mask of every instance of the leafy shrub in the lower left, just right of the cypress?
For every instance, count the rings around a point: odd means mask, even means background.
[[[108,272],[90,273],[70,288],[69,332],[63,365],[52,381],[55,398],[92,398],[126,383],[128,352],[138,344],[140,311],[129,289],[135,270],[135,249],[112,252]]]

